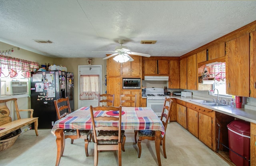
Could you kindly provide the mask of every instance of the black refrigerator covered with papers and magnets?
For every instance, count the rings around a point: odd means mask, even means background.
[[[68,96],[70,108],[74,110],[73,76],[73,73],[65,71],[32,72],[31,108],[34,109],[33,116],[38,117],[38,128],[52,128],[54,122],[58,120],[54,100]]]

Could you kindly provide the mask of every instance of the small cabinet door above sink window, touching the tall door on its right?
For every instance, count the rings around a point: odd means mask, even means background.
[[[208,48],[208,60],[225,56],[225,42]]]

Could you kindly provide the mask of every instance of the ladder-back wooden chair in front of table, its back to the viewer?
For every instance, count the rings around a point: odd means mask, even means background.
[[[118,111],[117,116],[104,116],[104,117],[94,117],[93,111]],[[98,165],[98,152],[103,150],[118,150],[118,165],[122,165],[121,150],[124,151],[124,142],[126,137],[124,135],[124,130],[121,130],[121,120],[122,120],[122,107],[112,107],[112,106],[90,106],[91,117],[92,117],[92,127],[94,136],[94,166]],[[95,121],[114,121],[117,126],[95,126]],[[110,122],[108,122],[110,123]],[[113,123],[113,122],[112,122]],[[98,135],[96,133],[98,130]]]

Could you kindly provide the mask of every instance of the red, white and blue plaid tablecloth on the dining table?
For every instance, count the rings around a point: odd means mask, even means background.
[[[122,107],[124,115],[122,115],[122,130],[160,130],[164,136],[164,126],[160,118],[149,107]],[[104,111],[95,111],[94,116],[109,116]],[[113,126],[113,123],[104,123],[96,121],[95,126],[104,124]],[[82,107],[68,116],[56,121],[51,130],[55,135],[55,130],[63,129],[86,129],[92,130],[92,121],[90,115],[90,107]]]

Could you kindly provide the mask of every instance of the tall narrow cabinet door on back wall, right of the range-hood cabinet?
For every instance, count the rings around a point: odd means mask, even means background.
[[[179,61],[170,60],[169,88],[179,89]]]

